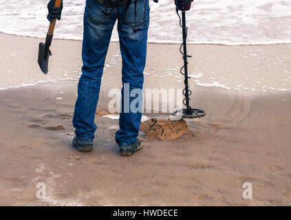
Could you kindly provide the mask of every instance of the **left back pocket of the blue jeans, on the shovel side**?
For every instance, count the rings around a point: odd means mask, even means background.
[[[94,23],[95,25],[99,25],[101,23],[105,22],[106,16],[103,14],[103,10],[105,10],[105,7],[98,3],[96,0],[87,0],[87,7],[88,7],[88,13],[87,13],[87,19],[91,23]]]

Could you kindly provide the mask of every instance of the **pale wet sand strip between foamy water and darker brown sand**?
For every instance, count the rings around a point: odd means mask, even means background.
[[[36,63],[37,47],[42,39],[0,34],[3,54],[0,56],[3,80],[0,87],[9,88],[21,84],[76,83],[82,66],[81,41],[55,39],[52,43],[50,72],[41,74]],[[6,43],[8,42],[8,44]],[[156,81],[155,87],[182,88],[182,56],[178,44],[148,44],[147,66],[144,76],[147,81]],[[11,51],[11,52],[10,52]],[[167,54],[171,54],[170,56]],[[238,92],[291,91],[291,44],[286,45],[188,45],[188,75],[190,86],[220,87]],[[164,57],[164,58],[163,58]],[[23,66],[19,69],[20,64]],[[25,58],[25,60],[23,60]],[[162,60],[160,60],[162,58]],[[12,65],[9,65],[11,63]],[[111,42],[105,61],[104,87],[109,86],[111,75],[114,85],[120,85],[121,56],[118,42]],[[17,72],[21,71],[19,75]],[[67,79],[67,80],[66,80]],[[120,81],[119,81],[120,82]],[[169,84],[169,85],[168,85]]]

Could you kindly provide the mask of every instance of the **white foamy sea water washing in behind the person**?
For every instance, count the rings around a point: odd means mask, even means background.
[[[151,1],[151,0],[150,0]],[[45,37],[48,0],[1,2],[0,32]],[[182,30],[173,0],[151,1],[149,42],[178,43]],[[83,37],[85,0],[64,0],[54,37]],[[291,0],[195,0],[186,14],[188,43],[257,45],[291,43]],[[116,29],[111,38],[118,41]]]

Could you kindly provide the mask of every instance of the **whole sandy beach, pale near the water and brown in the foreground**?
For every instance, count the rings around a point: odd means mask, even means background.
[[[207,115],[176,140],[140,133],[142,150],[120,157],[116,119],[96,116],[91,153],[71,145],[82,42],[55,39],[46,76],[39,42],[0,34],[0,206],[291,205],[290,44],[188,45],[191,106]],[[144,88],[183,88],[179,47],[149,43]],[[118,43],[105,63],[98,108],[121,87]]]

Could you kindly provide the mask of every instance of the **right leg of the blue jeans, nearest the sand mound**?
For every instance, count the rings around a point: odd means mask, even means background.
[[[118,8],[118,34],[122,54],[122,111],[119,119],[120,129],[116,131],[116,142],[119,146],[136,142],[142,117],[142,111],[132,111],[133,109],[128,106],[137,96],[125,97],[127,90],[129,94],[133,89],[142,91],[147,58],[149,0],[136,1],[136,5],[134,1],[131,3],[124,19],[120,15],[124,8]],[[142,94],[140,96],[142,104]],[[142,110],[142,107],[138,108]]]

